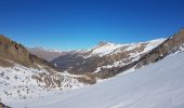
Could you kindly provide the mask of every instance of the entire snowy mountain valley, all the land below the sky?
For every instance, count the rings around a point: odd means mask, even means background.
[[[183,108],[184,29],[60,52],[0,36],[0,108]]]

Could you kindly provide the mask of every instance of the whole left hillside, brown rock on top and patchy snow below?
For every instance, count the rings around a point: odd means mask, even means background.
[[[82,76],[80,76],[82,77]],[[87,77],[83,77],[87,78]],[[0,36],[0,100],[26,99],[42,92],[82,86],[79,77],[61,73],[22,44]]]

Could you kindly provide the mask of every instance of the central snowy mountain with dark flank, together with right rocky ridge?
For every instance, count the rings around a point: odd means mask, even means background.
[[[62,71],[106,79],[131,67],[140,68],[155,63],[172,52],[181,51],[183,45],[184,29],[181,29],[168,39],[148,42],[131,44],[101,42],[90,50],[68,53],[51,63]]]

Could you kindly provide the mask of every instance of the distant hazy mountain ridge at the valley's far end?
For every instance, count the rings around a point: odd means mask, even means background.
[[[54,58],[65,55],[67,53],[67,52],[44,50],[42,48],[28,49],[28,51],[31,54],[37,55],[38,57],[43,58],[48,62],[53,60]]]

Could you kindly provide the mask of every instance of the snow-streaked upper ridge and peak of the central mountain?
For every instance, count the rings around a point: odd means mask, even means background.
[[[140,43],[127,43],[127,44],[116,44],[116,43],[108,43],[108,42],[100,42],[93,49],[86,51],[88,53],[84,57],[90,56],[106,56],[106,55],[114,55],[117,53],[132,51],[134,49],[144,49],[141,53],[148,52],[163,42],[166,39],[156,39],[147,42],[140,42]],[[135,52],[139,53],[140,52]],[[137,54],[137,55],[139,55]],[[133,54],[132,54],[133,55]],[[136,55],[136,54],[135,54]]]

